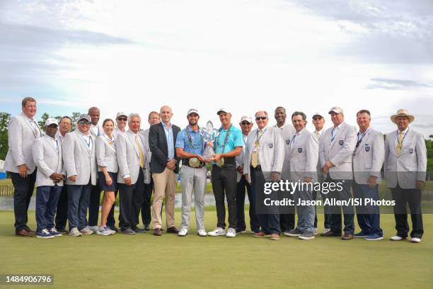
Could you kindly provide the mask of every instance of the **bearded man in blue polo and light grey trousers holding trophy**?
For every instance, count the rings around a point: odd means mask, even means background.
[[[200,133],[199,119],[198,111],[191,108],[187,112],[189,125],[180,130],[176,139],[176,155],[182,158],[182,168],[180,169],[182,227],[178,233],[179,237],[185,237],[190,226],[192,191],[194,191],[197,234],[201,237],[207,235],[204,229],[204,193],[206,193],[207,169],[203,158],[206,142],[204,135]]]

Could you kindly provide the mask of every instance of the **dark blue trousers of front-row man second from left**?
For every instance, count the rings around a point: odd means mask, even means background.
[[[61,186],[40,186],[36,188],[36,225],[41,229],[54,227],[54,215],[59,201]]]

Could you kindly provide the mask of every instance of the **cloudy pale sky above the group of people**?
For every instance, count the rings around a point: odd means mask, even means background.
[[[204,125],[222,107],[238,123],[341,106],[347,123],[367,108],[390,132],[407,108],[433,134],[432,0],[0,0],[0,35],[0,111],[12,114],[25,96],[37,116],[168,104],[182,127],[192,107]]]

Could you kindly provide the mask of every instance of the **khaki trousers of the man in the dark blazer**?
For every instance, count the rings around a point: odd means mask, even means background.
[[[154,229],[162,227],[161,208],[164,196],[166,196],[167,228],[174,227],[174,199],[178,175],[166,168],[162,173],[153,173],[152,178],[155,184],[154,203],[152,205]]]

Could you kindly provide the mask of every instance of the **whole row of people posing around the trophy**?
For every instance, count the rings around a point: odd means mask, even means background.
[[[424,137],[409,127],[415,119],[408,111],[391,116],[397,130],[383,135],[371,128],[369,111],[357,113],[359,129],[344,121],[342,108],[328,112],[333,126],[324,129],[322,113],[314,113],[315,130],[306,129],[306,114],[295,111],[291,123],[286,110],[275,109],[277,124],[268,125],[266,111],[253,119],[242,116],[236,128],[227,108],[217,111],[221,126],[214,140],[207,140],[198,125],[200,113],[187,111],[188,125],[181,130],[171,123],[172,110],[163,106],[149,113],[150,128],[142,130],[137,113],[117,113],[115,120],[103,120],[100,111],[88,109],[71,130],[71,118],[48,118],[45,132],[35,121],[34,98],[24,98],[23,113],[8,124],[9,150],[4,169],[14,186],[16,235],[52,238],[82,234],[110,235],[115,227],[114,204],[119,194],[119,227],[124,234],[144,233],[151,227],[155,236],[163,234],[163,200],[166,232],[185,237],[190,232],[190,208],[194,196],[197,234],[236,237],[246,232],[244,204],[246,192],[250,207],[250,229],[254,237],[280,238],[283,233],[299,239],[313,239],[318,234],[314,205],[302,201],[379,200],[381,169],[391,188],[397,234],[393,241],[409,234],[407,203],[412,218],[411,242],[421,242],[423,234],[421,191],[427,169]],[[214,154],[204,152],[212,148]],[[212,189],[217,208],[217,227],[204,227],[204,193],[207,164],[212,164]],[[180,174],[182,190],[181,225],[175,227],[175,186]],[[278,208],[263,205],[265,198],[278,200],[281,191],[265,194],[267,182],[288,180],[304,183],[341,185],[328,194],[299,186],[289,198],[294,206]],[[27,225],[30,197],[36,186],[36,222],[33,231]],[[103,192],[102,204],[100,193]],[[153,193],[153,202],[151,195]],[[228,227],[226,208],[228,205]],[[98,225],[101,206],[100,224]],[[289,209],[289,210],[288,210]],[[353,205],[325,205],[323,237],[383,239],[378,205],[357,206],[359,232],[354,231]],[[141,211],[142,225],[139,226]],[[344,216],[342,224],[341,211]],[[69,229],[66,228],[67,222]],[[227,227],[227,229],[226,229]]]

